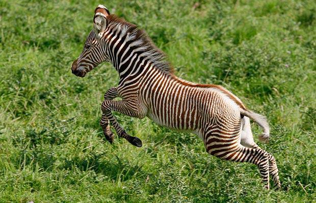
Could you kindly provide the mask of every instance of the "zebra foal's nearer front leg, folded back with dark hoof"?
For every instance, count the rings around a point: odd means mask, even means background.
[[[140,115],[140,111],[138,105],[136,104],[136,101],[113,101],[104,99],[101,105],[101,110],[102,115],[104,114],[110,120],[119,137],[126,139],[130,144],[135,145],[136,147],[142,146],[142,141],[137,137],[129,136],[129,134],[126,133],[124,128],[117,122],[115,116],[111,112],[116,111],[121,114],[137,118],[144,117]]]

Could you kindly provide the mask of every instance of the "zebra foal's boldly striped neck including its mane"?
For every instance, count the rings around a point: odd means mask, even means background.
[[[111,23],[103,38],[120,83],[127,78],[134,79],[150,68],[171,73],[163,52],[135,25]]]

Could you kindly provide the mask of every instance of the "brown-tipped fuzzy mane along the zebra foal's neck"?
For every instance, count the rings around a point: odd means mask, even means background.
[[[121,31],[121,36],[127,35],[125,41],[132,41],[134,49],[141,51],[142,56],[152,62],[156,69],[173,75],[173,68],[167,61],[166,54],[154,45],[144,30],[114,14],[109,15],[107,20],[108,26],[113,30]]]

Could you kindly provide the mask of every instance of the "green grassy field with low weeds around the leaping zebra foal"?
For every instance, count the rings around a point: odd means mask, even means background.
[[[145,29],[177,76],[223,85],[267,116],[270,143],[258,144],[282,190],[147,118],[116,114],[142,148],[103,139],[100,104],[118,75],[108,63],[70,71],[98,4]],[[315,202],[315,13],[292,0],[0,0],[0,202]]]

